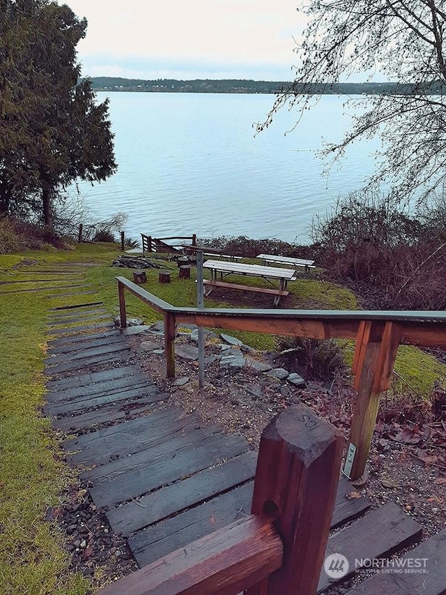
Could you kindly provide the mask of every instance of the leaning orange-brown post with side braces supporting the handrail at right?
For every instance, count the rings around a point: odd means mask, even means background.
[[[344,474],[350,479],[364,474],[380,393],[390,387],[400,340],[399,324],[386,322],[384,328],[382,322],[360,324],[353,358],[353,388],[357,390],[357,400],[344,464]]]

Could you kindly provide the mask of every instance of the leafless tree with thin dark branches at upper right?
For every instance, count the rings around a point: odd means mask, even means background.
[[[336,159],[360,137],[379,135],[383,159],[378,159],[368,186],[386,181],[395,196],[406,199],[417,193],[421,202],[446,178],[445,4],[309,0],[306,8],[299,8],[309,20],[295,48],[295,80],[277,96],[259,130],[284,105],[301,115],[311,109],[315,91],[327,91],[355,73],[380,73],[381,80],[397,85],[362,98],[364,109],[344,139],[323,152]]]

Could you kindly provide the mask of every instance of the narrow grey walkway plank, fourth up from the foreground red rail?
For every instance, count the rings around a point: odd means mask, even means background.
[[[167,421],[169,423],[169,420]],[[160,430],[162,437],[162,430]],[[206,425],[196,430],[186,432],[184,435],[167,435],[164,440],[153,439],[153,443],[149,442],[148,448],[137,451],[136,453],[124,457],[122,459],[107,462],[106,465],[94,467],[82,473],[82,479],[93,481],[107,478],[109,481],[118,479],[122,474],[129,474],[139,469],[148,469],[157,462],[164,462],[164,465],[169,465],[167,461],[171,458],[177,457],[180,453],[185,451],[192,455],[193,449],[200,445],[206,444],[208,439],[212,439],[215,435],[221,434],[221,428],[218,425]],[[223,435],[223,434],[221,434]]]

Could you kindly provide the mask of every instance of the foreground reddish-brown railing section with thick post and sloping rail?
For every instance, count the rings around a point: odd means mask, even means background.
[[[250,516],[98,595],[316,594],[343,446],[309,407],[285,409],[261,437]]]

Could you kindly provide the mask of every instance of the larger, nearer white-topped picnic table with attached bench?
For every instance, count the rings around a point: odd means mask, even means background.
[[[295,280],[295,271],[292,269],[279,269],[275,266],[261,266],[259,264],[245,264],[243,262],[224,262],[221,260],[206,260],[203,269],[210,271],[210,280],[203,280],[206,296],[212,292],[214,287],[226,289],[239,289],[245,292],[258,292],[274,295],[273,306],[279,305],[281,297],[287,296],[289,292],[286,285],[289,281]],[[252,285],[239,285],[237,283],[226,283],[223,278],[228,275],[245,275],[250,277],[261,277],[270,283],[271,287],[252,287]],[[217,277],[220,276],[220,280]],[[279,287],[275,287],[271,280],[279,280]]]

